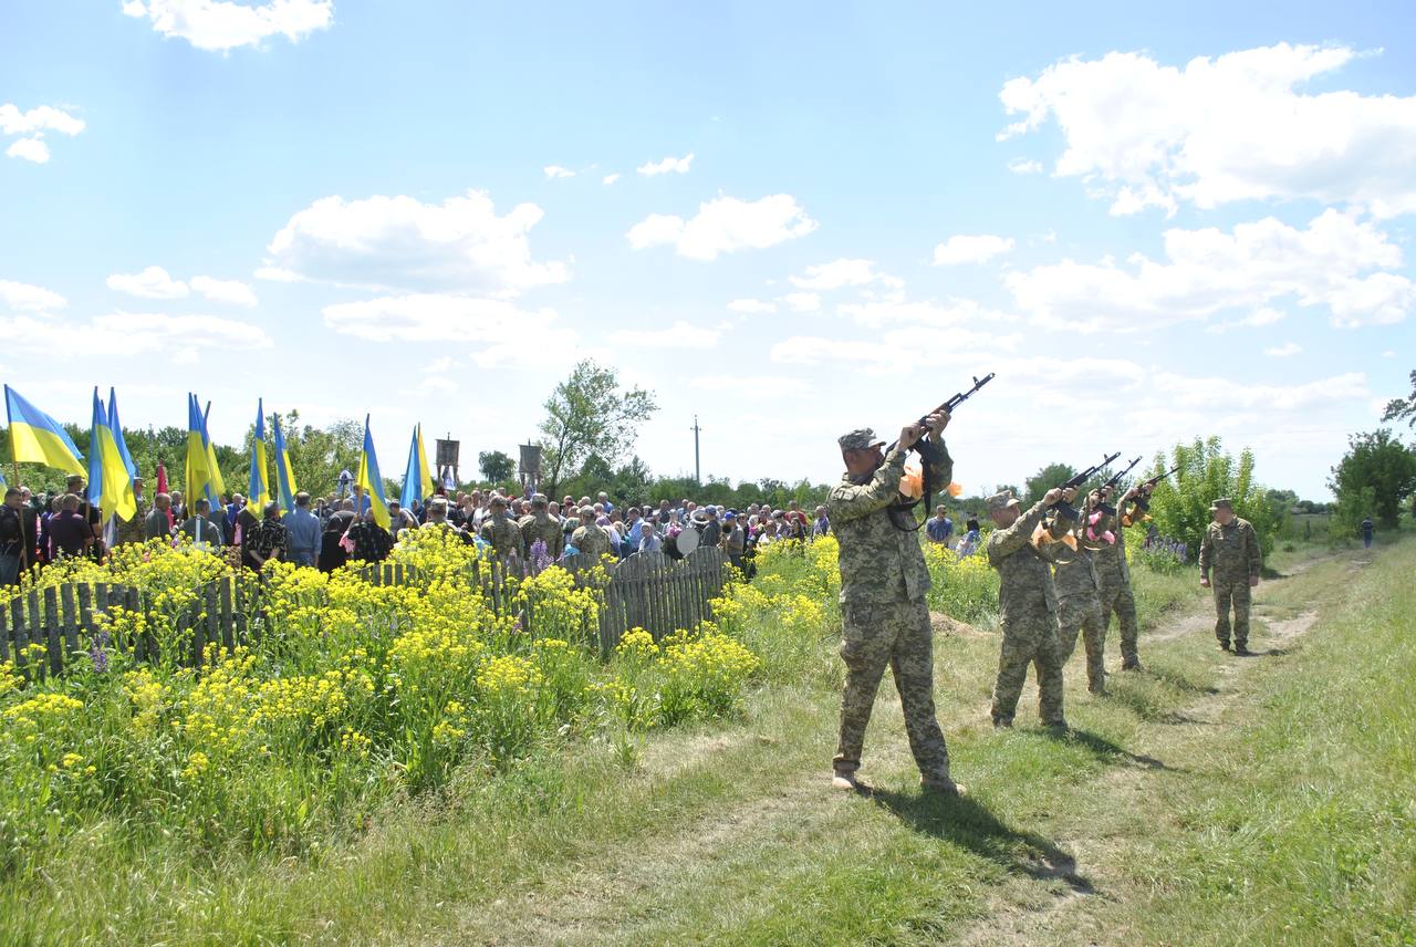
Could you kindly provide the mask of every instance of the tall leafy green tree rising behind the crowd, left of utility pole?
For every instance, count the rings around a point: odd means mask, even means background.
[[[593,360],[579,362],[545,401],[541,459],[548,490],[558,493],[561,477],[579,470],[592,454],[623,454],[657,408],[653,392],[622,389],[613,368]]]

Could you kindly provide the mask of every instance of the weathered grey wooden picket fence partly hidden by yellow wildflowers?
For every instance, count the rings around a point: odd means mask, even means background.
[[[687,559],[674,561],[661,552],[633,555],[613,563],[603,573],[592,572],[596,563],[571,556],[564,565],[576,583],[592,585],[599,603],[599,627],[586,629],[586,637],[599,643],[609,655],[630,629],[644,629],[663,638],[678,629],[694,629],[711,617],[709,600],[726,580],[726,556],[704,548]],[[514,607],[506,568],[496,562],[474,562],[466,580],[481,590],[496,614]],[[421,576],[402,563],[375,563],[360,569],[371,585],[418,585]],[[183,654],[167,655],[178,664],[197,664],[208,647],[232,648],[248,644],[263,627],[263,596],[258,582],[222,576],[197,590],[194,602],[177,614]],[[67,657],[88,648],[101,631],[102,616],[116,609],[150,614],[153,604],[140,589],[115,583],[71,582],[31,589],[0,607],[0,661],[14,661],[38,675],[59,674]],[[534,609],[520,613],[523,629],[534,634]],[[252,621],[256,619],[256,621]],[[41,645],[42,655],[31,645]],[[137,640],[112,640],[110,648],[132,650],[142,661],[156,661],[159,643],[152,633]],[[31,667],[33,665],[33,667]]]

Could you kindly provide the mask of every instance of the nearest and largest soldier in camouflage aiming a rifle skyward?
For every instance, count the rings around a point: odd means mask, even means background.
[[[891,510],[901,498],[901,477],[910,447],[916,447],[930,466],[935,483],[949,483],[953,460],[939,437],[947,423],[949,413],[939,412],[929,416],[926,426],[905,427],[889,453],[881,452],[884,442],[875,440],[868,429],[852,430],[838,440],[847,474],[827,501],[831,527],[841,544],[841,658],[845,661],[841,739],[831,780],[837,788],[861,788],[855,771],[861,766],[865,728],[881,677],[889,665],[923,788],[963,791],[949,776],[949,747],[935,716],[933,638],[925,603],[929,569],[919,536],[901,528],[912,527],[913,515]],[[920,442],[926,427],[929,439]]]

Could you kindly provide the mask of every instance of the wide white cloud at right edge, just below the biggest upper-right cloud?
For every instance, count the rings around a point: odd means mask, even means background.
[[[1328,210],[1307,229],[1274,218],[1216,228],[1171,229],[1167,262],[1140,253],[1121,268],[1063,260],[1010,273],[1018,306],[1039,324],[1097,331],[1206,320],[1249,310],[1249,324],[1276,318],[1273,303],[1325,307],[1338,327],[1392,324],[1416,306],[1416,285],[1391,272],[1402,251],[1371,222]],[[1226,326],[1228,327],[1228,326]]]

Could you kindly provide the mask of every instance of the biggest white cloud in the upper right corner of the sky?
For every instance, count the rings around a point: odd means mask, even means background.
[[[1065,59],[1004,84],[1000,99],[1021,119],[998,137],[1056,120],[1056,174],[1110,197],[1113,214],[1253,198],[1416,211],[1416,96],[1296,91],[1357,55],[1284,42],[1184,68],[1140,52]]]

